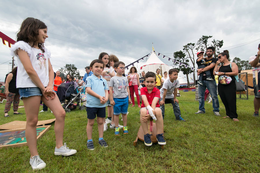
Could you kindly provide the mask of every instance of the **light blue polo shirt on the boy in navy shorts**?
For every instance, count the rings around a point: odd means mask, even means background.
[[[85,87],[91,87],[92,91],[104,97],[105,90],[108,90],[107,81],[102,76],[100,76],[100,79],[97,78],[94,74],[87,77]],[[106,107],[106,104],[101,104],[99,98],[87,94],[86,106],[90,108],[103,108]]]

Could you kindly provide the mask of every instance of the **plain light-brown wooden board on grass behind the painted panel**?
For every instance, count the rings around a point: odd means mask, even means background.
[[[56,119],[54,118],[54,119],[49,119],[49,120],[38,121],[37,126],[50,124],[55,120]],[[26,126],[26,121],[12,121],[12,122],[0,125],[0,129],[1,130],[22,129],[22,128],[25,128],[25,126]]]

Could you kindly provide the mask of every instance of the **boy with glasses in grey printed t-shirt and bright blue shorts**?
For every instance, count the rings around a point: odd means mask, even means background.
[[[128,80],[122,76],[125,73],[125,63],[122,61],[115,62],[114,69],[116,76],[112,77],[109,82],[109,100],[110,104],[114,106],[115,135],[119,135],[118,121],[120,113],[122,113],[123,117],[123,133],[128,134],[128,127],[126,126],[127,109],[128,104],[131,104],[132,101],[130,99]]]

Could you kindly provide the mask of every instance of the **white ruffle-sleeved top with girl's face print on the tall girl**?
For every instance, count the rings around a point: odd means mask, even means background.
[[[38,74],[44,87],[49,84],[49,63],[48,59],[51,58],[51,52],[44,48],[45,52],[42,52],[40,49],[32,48],[28,43],[24,41],[16,42],[10,48],[11,55],[17,57],[17,76],[16,76],[16,88],[29,88],[29,87],[38,87],[31,78],[28,76],[25,71],[23,64],[17,55],[18,48],[24,50],[28,53],[31,64]]]

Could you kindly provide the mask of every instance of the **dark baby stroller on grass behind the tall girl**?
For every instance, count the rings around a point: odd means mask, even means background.
[[[60,99],[60,103],[64,103],[62,107],[65,112],[70,112],[70,110],[74,110],[76,108],[79,108],[79,110],[85,110],[85,106],[80,106],[80,93],[85,93],[85,89],[80,89],[81,87],[74,89],[74,82],[62,83],[58,86],[57,95]]]

